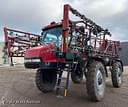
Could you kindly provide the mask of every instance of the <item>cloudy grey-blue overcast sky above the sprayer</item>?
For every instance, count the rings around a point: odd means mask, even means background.
[[[40,34],[62,19],[65,3],[108,28],[113,39],[128,41],[128,0],[0,0],[0,40],[4,26]]]

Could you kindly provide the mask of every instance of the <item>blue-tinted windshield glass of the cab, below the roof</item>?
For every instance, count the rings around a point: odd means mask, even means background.
[[[43,32],[41,36],[41,43],[54,43],[57,47],[60,47],[62,39],[62,28],[57,27],[48,29]]]

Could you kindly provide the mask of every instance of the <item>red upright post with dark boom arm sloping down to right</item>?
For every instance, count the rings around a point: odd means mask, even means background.
[[[92,20],[88,19],[85,15],[82,15],[79,13],[77,10],[72,8],[70,5],[66,4],[64,5],[64,14],[63,14],[63,52],[67,52],[68,50],[68,35],[69,35],[69,12],[74,14],[75,16],[79,17],[82,19],[82,22],[86,24],[86,27],[88,29],[91,29],[95,32],[103,32],[104,35],[110,35],[110,32],[107,29],[103,29],[96,23],[94,23]]]

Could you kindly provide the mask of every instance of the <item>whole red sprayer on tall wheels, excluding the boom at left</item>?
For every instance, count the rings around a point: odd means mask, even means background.
[[[69,13],[80,20],[71,20]],[[122,84],[120,42],[108,40],[108,36],[111,34],[107,29],[70,5],[64,5],[63,20],[60,23],[52,22],[42,29],[38,45],[26,50],[24,65],[37,69],[36,85],[44,93],[56,88],[57,95],[63,90],[63,95],[67,96],[70,75],[76,84],[85,75],[88,96],[93,101],[101,101],[105,94],[108,68],[113,86],[119,88]],[[62,83],[63,79],[65,84]]]

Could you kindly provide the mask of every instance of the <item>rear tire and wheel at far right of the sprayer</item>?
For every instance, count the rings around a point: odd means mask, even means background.
[[[115,88],[120,88],[123,83],[123,67],[120,62],[115,62],[112,65],[111,78]]]

